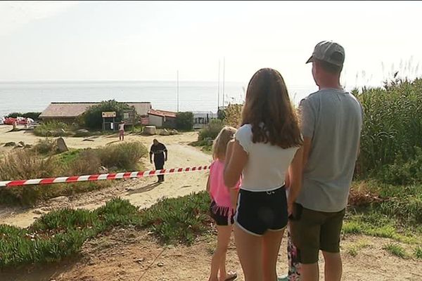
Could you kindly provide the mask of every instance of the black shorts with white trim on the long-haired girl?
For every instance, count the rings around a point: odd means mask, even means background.
[[[283,230],[287,226],[287,197],[284,185],[271,191],[239,192],[236,224],[252,235],[263,235],[267,230]]]

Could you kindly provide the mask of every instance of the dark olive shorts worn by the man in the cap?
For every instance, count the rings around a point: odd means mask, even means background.
[[[314,211],[295,203],[289,223],[300,263],[318,262],[319,250],[340,252],[340,232],[344,216],[345,209],[333,213]]]

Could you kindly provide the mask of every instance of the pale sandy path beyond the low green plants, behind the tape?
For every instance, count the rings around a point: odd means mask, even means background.
[[[39,139],[33,136],[32,133],[24,133],[23,131],[6,133],[8,130],[8,128],[0,126],[0,143],[24,141],[25,143],[33,144]],[[165,143],[169,150],[169,159],[165,164],[165,168],[200,166],[211,162],[210,155],[205,155],[200,150],[187,145],[192,141],[196,141],[197,133],[193,132],[175,136],[126,136],[125,141],[141,141],[149,148],[153,138],[158,138],[159,141]],[[114,143],[117,139],[117,136],[107,136],[95,138],[91,142],[83,141],[83,138],[65,138],[65,142],[70,148],[97,148]],[[148,161],[146,162],[147,169],[154,169],[152,164]],[[0,209],[0,223],[26,227],[35,218],[53,209],[64,207],[95,209],[117,196],[129,200],[136,206],[149,207],[164,196],[178,197],[204,190],[206,178],[207,172],[198,171],[166,176],[165,182],[160,185],[154,184],[157,180],[156,177],[115,181],[115,185],[112,188],[78,194],[72,197],[54,198],[34,208],[2,208]]]

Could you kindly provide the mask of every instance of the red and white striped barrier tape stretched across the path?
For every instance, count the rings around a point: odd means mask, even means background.
[[[20,185],[46,185],[53,183],[76,183],[79,181],[104,181],[104,180],[117,180],[121,178],[143,178],[144,176],[158,176],[167,174],[187,173],[191,171],[205,171],[210,169],[210,166],[194,166],[188,168],[174,168],[162,169],[151,171],[132,171],[115,174],[98,174],[87,176],[60,176],[58,178],[34,178],[31,180],[18,180],[18,181],[0,181],[0,188],[12,187]]]

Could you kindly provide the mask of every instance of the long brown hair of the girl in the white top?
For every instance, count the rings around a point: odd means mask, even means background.
[[[298,116],[277,70],[262,68],[253,74],[242,110],[244,124],[252,126],[253,143],[271,143],[281,148],[302,145]]]

